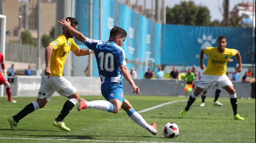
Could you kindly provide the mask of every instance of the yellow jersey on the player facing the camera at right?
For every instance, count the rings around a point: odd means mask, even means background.
[[[225,75],[228,59],[237,53],[236,49],[228,48],[225,48],[225,52],[220,53],[218,47],[206,47],[203,51],[209,55],[207,67],[204,72],[207,75]]]

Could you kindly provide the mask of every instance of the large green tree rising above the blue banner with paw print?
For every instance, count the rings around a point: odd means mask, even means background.
[[[166,7],[166,23],[178,25],[209,26],[210,11],[205,6],[197,6],[193,1],[181,1],[172,8]]]

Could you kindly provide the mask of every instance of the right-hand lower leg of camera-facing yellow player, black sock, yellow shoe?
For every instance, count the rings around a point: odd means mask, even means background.
[[[233,112],[234,112],[234,119],[244,120],[243,117],[241,117],[239,114],[237,114],[237,99],[236,99],[236,90],[234,89],[234,86],[229,85],[229,86],[225,86],[223,88],[230,94],[230,102],[231,102]]]

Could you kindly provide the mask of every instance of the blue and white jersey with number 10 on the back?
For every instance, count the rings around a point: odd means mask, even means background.
[[[101,83],[123,83],[120,65],[126,65],[123,48],[115,42],[85,39],[84,45],[94,51],[98,64]]]

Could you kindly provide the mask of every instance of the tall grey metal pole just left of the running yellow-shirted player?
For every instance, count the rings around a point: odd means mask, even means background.
[[[41,36],[40,36],[40,18],[41,18],[41,6],[40,6],[40,0],[37,0],[37,64],[36,64],[36,75],[39,76],[40,75],[40,67],[41,67]]]

